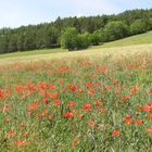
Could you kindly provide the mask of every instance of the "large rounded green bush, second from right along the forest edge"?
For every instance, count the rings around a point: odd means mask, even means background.
[[[103,29],[105,41],[112,41],[121,38],[125,38],[129,35],[129,27],[119,21],[110,22]]]

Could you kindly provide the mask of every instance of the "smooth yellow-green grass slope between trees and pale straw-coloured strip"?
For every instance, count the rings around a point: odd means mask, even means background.
[[[135,45],[147,45],[147,43],[152,43],[152,31],[128,37],[128,38],[116,40],[116,41],[112,41],[112,42],[106,42],[101,46],[92,46],[88,48],[88,50],[135,46]],[[0,59],[34,56],[34,55],[52,54],[52,53],[61,53],[61,52],[67,52],[67,50],[58,48],[58,49],[45,49],[45,50],[35,50],[35,51],[26,51],[26,52],[15,52],[15,53],[9,53],[9,54],[0,54]]]

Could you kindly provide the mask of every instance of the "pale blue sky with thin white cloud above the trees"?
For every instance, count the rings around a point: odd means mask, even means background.
[[[152,0],[0,0],[0,28],[151,8]]]

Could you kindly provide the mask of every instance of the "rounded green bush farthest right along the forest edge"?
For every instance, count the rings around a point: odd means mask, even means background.
[[[147,29],[148,25],[143,20],[136,20],[130,26],[130,31],[132,35],[145,33]]]

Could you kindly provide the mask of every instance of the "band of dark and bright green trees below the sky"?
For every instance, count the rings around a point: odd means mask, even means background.
[[[0,29],[0,53],[62,47],[85,49],[152,29],[152,9],[119,14],[58,17],[54,22]]]

